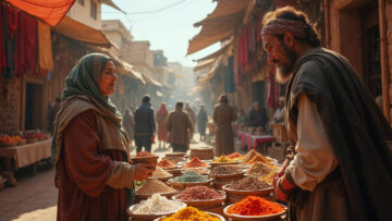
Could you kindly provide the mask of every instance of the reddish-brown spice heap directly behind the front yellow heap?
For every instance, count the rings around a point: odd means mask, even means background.
[[[222,194],[207,186],[192,186],[177,195],[181,200],[218,199]]]

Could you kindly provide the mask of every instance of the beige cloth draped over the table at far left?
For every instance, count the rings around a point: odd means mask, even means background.
[[[0,147],[0,157],[14,159],[15,170],[51,157],[51,138],[15,147]]]

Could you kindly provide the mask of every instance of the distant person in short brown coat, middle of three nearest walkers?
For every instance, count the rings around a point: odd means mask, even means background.
[[[170,112],[166,122],[166,128],[169,132],[169,143],[174,152],[186,152],[193,126],[189,115],[183,111],[183,102],[175,105],[175,110]]]

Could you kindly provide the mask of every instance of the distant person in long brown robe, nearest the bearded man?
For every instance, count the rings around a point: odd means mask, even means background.
[[[229,106],[225,95],[220,96],[219,105],[213,107],[212,119],[217,124],[215,155],[230,155],[234,152],[234,135],[231,123],[236,121],[234,109]]]

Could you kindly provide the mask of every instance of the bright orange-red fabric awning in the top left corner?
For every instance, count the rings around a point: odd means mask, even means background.
[[[13,7],[56,26],[75,0],[5,0]]]

